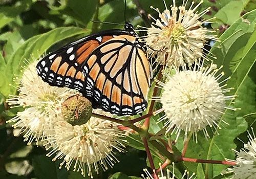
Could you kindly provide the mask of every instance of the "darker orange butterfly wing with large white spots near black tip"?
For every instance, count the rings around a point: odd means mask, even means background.
[[[67,86],[81,91],[85,87],[81,65],[88,56],[105,41],[127,33],[122,30],[109,30],[72,42],[42,58],[36,66],[37,73],[52,86]]]

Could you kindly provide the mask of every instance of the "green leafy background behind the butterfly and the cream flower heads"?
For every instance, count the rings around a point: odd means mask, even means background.
[[[157,13],[150,9],[151,5],[160,11],[164,10],[161,0],[139,2],[146,12],[155,17]],[[165,2],[167,5],[172,4],[170,0]],[[234,159],[231,148],[240,149],[243,145],[236,138],[246,142],[246,129],[250,126],[256,129],[256,1],[209,0],[202,4],[201,9],[209,6],[211,10],[205,18],[217,18],[215,24],[207,27],[219,30],[217,34],[220,36],[220,42],[215,43],[210,51],[217,56],[215,63],[224,66],[226,77],[231,77],[227,85],[234,87],[234,90],[230,95],[238,95],[234,106],[241,110],[228,111],[222,117],[229,125],[222,125],[222,129],[218,130],[220,135],[212,133],[209,140],[199,137],[198,144],[190,141],[186,156],[208,160]],[[5,100],[17,93],[13,79],[20,77],[26,61],[90,33],[122,29],[122,26],[93,23],[90,20],[124,24],[123,9],[122,0],[0,1],[0,178],[83,178],[80,173],[58,169],[59,161],[51,162],[43,148],[27,146],[22,137],[13,137],[13,129],[5,121],[22,109],[10,108]],[[132,0],[127,0],[125,16],[134,26],[147,26],[149,23],[139,16]],[[156,124],[156,120],[157,117],[151,120],[150,131],[153,133],[161,129],[161,124]],[[95,178],[140,176],[142,169],[148,166],[144,147],[136,135],[130,136],[128,140],[131,146],[127,147],[128,152],[117,153],[120,163],[107,172],[95,175]],[[175,145],[175,150],[182,150],[182,142]],[[151,148],[158,166],[158,162],[163,161],[157,155],[157,149]],[[205,175],[222,178],[220,172],[226,168],[223,165],[187,162],[182,166],[190,172],[196,172],[198,178],[204,178]],[[179,171],[177,175],[180,175]]]

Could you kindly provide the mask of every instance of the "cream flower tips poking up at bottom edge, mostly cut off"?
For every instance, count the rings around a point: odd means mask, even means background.
[[[173,171],[172,173],[170,172],[170,170],[166,170],[166,175],[164,175],[163,173],[163,170],[162,170],[162,167],[161,167],[161,163],[159,163],[159,167],[160,167],[160,174],[158,174],[158,178],[159,179],[175,179],[175,178],[178,178],[175,173],[174,173],[174,163],[173,163]],[[141,174],[141,176],[144,178],[144,179],[154,179],[154,177],[151,175],[150,172],[148,172],[147,169],[143,169],[143,171],[145,172],[146,176],[144,174]],[[155,174],[156,174],[156,171],[154,170],[153,171]],[[195,179],[197,178],[196,176],[196,173],[192,173],[191,176],[189,176],[189,172],[187,170],[184,171],[182,177],[178,178],[178,179]]]

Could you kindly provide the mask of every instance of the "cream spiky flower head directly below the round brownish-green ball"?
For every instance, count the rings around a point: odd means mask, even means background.
[[[101,110],[94,113],[110,116]],[[55,135],[49,136],[53,141],[49,148],[52,150],[47,156],[54,156],[53,161],[62,159],[60,168],[64,165],[67,170],[73,167],[74,171],[80,171],[83,176],[93,178],[93,172],[98,173],[99,167],[107,170],[119,162],[115,157],[115,151],[124,152],[124,132],[118,129],[118,124],[96,117],[91,117],[86,124],[71,125],[60,119],[54,126]]]

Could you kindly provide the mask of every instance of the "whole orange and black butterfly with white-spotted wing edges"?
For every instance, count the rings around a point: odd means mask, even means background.
[[[52,86],[77,89],[94,108],[118,116],[147,107],[151,66],[131,24],[74,41],[37,63],[37,73]]]

